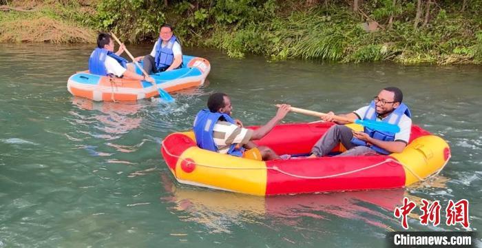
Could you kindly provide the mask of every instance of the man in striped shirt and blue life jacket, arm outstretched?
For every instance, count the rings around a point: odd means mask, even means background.
[[[259,151],[264,161],[280,158],[273,149],[258,146],[252,141],[266,136],[288,114],[290,105],[283,104],[276,115],[257,130],[244,128],[239,120],[231,118],[233,107],[227,94],[211,94],[207,106],[209,109],[201,110],[194,121],[194,132],[199,147],[233,156],[245,156],[250,152]],[[244,152],[244,149],[250,150]]]

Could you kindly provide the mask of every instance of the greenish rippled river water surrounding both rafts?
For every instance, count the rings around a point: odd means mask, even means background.
[[[404,196],[440,200],[441,224],[409,231],[479,231],[482,225],[481,66],[235,60],[211,62],[209,85],[137,103],[96,103],[67,92],[91,45],[0,44],[0,248],[384,247],[401,231]],[[132,49],[147,54],[149,46]],[[328,112],[366,105],[382,87],[404,91],[413,121],[448,141],[452,158],[430,182],[407,189],[269,198],[175,182],[160,156],[171,132],[188,130],[212,92],[233,116],[262,125],[275,103]],[[316,121],[289,114],[286,123]],[[470,202],[470,228],[446,225],[448,200]],[[481,245],[480,242],[477,245]]]

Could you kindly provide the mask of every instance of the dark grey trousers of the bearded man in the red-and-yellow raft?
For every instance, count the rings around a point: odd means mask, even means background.
[[[350,127],[346,127],[346,125],[333,125],[326,131],[326,134],[320,138],[315,146],[311,149],[311,153],[315,154],[316,156],[325,156],[326,154],[330,153],[338,143],[342,143],[342,145],[346,148],[346,152],[339,154],[337,156],[360,156],[360,155],[376,155],[375,152],[370,147],[366,146],[355,146],[351,143],[351,139],[353,138],[353,134],[351,132]]]

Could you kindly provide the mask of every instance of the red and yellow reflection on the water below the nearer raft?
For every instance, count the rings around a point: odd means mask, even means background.
[[[431,180],[435,187],[445,187],[446,178]],[[406,189],[387,189],[362,192],[334,192],[328,194],[300,194],[258,197],[222,192],[190,186],[177,186],[169,174],[160,175],[161,185],[168,193],[161,200],[174,203],[172,209],[189,213],[180,220],[205,225],[213,233],[231,233],[241,223],[258,223],[271,219],[270,225],[302,229],[306,218],[331,221],[333,216],[360,220],[368,225],[391,230],[397,226],[392,213],[404,197],[421,205],[421,198]],[[426,182],[427,183],[427,182]],[[423,186],[414,186],[423,187]],[[374,209],[375,207],[375,209]],[[415,212],[412,218],[418,218]],[[265,223],[266,224],[266,223]],[[311,230],[317,231],[317,230]],[[318,230],[322,231],[322,230]]]

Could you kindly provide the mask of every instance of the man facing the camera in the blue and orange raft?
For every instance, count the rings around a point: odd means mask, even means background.
[[[172,34],[172,26],[164,23],[160,26],[159,38],[150,54],[136,57],[143,61],[147,74],[174,70],[182,64],[182,50],[176,36]]]

